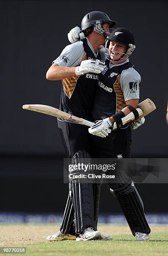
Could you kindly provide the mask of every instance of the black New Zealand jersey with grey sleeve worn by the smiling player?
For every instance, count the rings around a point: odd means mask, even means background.
[[[140,74],[128,59],[116,65],[107,59],[106,68],[99,76],[92,110],[93,121],[110,117],[126,106],[126,100],[139,98],[140,81]]]

